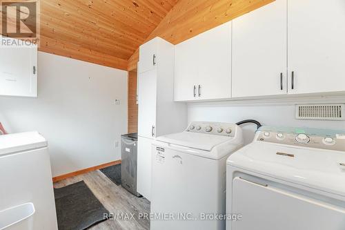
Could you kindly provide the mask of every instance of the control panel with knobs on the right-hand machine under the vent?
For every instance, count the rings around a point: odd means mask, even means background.
[[[262,126],[256,141],[345,151],[345,131]]]

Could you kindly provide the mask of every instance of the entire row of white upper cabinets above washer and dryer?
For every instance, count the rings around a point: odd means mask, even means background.
[[[344,0],[276,0],[177,44],[175,101],[344,93],[344,22]]]

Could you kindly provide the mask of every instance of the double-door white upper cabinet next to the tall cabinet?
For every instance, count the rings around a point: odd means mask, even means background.
[[[231,96],[231,22],[175,46],[175,101]]]

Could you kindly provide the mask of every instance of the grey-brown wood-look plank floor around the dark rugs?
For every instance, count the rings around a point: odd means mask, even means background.
[[[150,229],[150,220],[139,218],[139,213],[150,213],[150,202],[145,198],[137,198],[121,185],[117,186],[98,170],[55,182],[54,187],[61,188],[81,180],[88,185],[92,193],[110,213],[118,215],[118,218],[103,221],[90,227],[90,230]],[[131,218],[131,214],[134,215],[134,218]],[[124,218],[121,218],[121,215]],[[126,217],[129,217],[130,220]]]

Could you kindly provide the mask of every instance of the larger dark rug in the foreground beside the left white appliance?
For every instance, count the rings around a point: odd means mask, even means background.
[[[103,220],[106,210],[85,182],[54,189],[59,230],[83,230]]]

